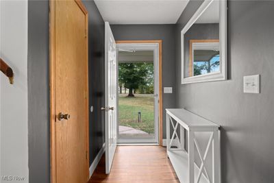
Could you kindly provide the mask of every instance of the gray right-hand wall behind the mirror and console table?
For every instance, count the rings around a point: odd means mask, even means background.
[[[200,4],[190,1],[177,22],[177,107],[221,125],[223,183],[274,182],[274,1],[229,1],[229,80],[181,85],[180,32]],[[261,75],[260,94],[242,93],[252,74]]]

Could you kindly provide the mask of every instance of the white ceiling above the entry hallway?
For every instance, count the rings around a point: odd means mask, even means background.
[[[176,23],[188,0],[95,0],[110,24]]]

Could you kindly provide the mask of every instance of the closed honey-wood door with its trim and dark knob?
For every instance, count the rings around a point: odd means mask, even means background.
[[[88,13],[51,1],[51,182],[88,181]]]

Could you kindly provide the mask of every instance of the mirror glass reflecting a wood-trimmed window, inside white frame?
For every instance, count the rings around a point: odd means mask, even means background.
[[[219,1],[212,1],[184,34],[184,77],[220,71],[219,16]]]

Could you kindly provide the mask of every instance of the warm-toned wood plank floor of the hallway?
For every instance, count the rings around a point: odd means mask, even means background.
[[[166,158],[166,148],[161,146],[119,146],[116,149],[110,175],[105,175],[105,158],[88,183],[175,183],[179,182],[171,162]]]

